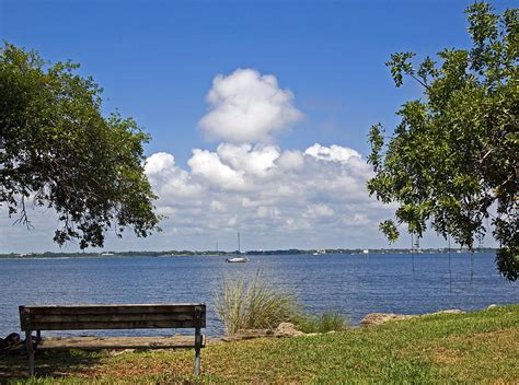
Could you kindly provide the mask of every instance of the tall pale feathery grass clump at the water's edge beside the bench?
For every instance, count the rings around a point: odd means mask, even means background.
[[[240,329],[273,329],[299,314],[290,293],[273,288],[257,273],[252,281],[224,278],[215,292],[215,307],[228,336]]]

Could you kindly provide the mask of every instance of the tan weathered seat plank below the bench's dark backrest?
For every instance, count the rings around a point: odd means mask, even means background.
[[[205,338],[203,346],[205,346]],[[195,336],[174,337],[46,337],[38,350],[102,349],[188,349],[195,348]]]

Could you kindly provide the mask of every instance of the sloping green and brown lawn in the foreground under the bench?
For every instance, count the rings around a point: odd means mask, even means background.
[[[206,383],[519,383],[519,305],[439,314],[367,329],[210,345]],[[0,358],[4,381],[28,384],[192,383],[194,352],[44,353],[27,382],[23,357]],[[8,377],[9,376],[9,377]]]

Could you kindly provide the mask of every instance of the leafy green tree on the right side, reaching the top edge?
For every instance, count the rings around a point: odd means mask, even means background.
[[[380,229],[390,241],[406,224],[420,237],[427,226],[471,250],[492,221],[499,243],[496,265],[509,280],[518,256],[518,10],[498,15],[475,2],[465,11],[470,49],[445,49],[439,62],[426,57],[413,65],[412,52],[391,56],[387,66],[395,85],[404,77],[423,88],[423,98],[405,103],[390,138],[371,127],[374,177],[370,195],[397,202],[396,223]]]

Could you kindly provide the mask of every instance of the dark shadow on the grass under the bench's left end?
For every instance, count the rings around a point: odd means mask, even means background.
[[[70,374],[81,376],[106,357],[106,352],[80,350],[36,351],[36,376],[62,377]],[[27,378],[28,360],[25,353],[0,355],[0,384],[11,380]]]

